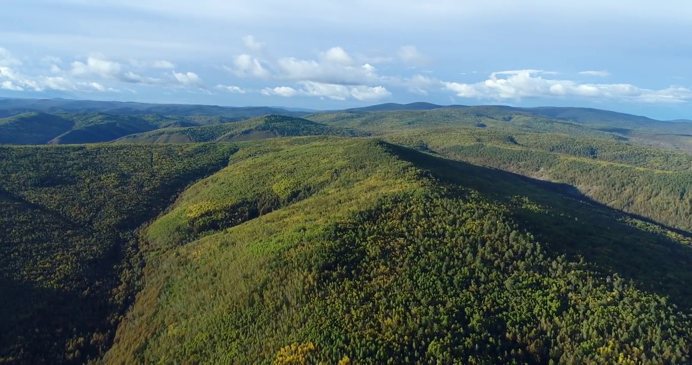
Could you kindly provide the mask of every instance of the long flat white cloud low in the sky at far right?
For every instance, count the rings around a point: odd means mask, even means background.
[[[670,87],[649,90],[630,84],[580,84],[572,80],[545,79],[542,71],[520,70],[492,73],[489,79],[475,84],[444,82],[443,85],[460,97],[478,99],[521,99],[524,97],[581,97],[641,102],[674,103],[692,100],[688,88]],[[498,75],[508,75],[498,78]]]

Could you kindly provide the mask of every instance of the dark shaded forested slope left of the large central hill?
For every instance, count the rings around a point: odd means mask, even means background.
[[[138,286],[136,230],[233,151],[0,147],[0,363],[102,354]]]

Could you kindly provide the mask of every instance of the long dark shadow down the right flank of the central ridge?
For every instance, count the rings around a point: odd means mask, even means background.
[[[656,292],[689,310],[692,308],[692,246],[671,238],[692,241],[689,232],[673,230],[648,221],[649,229],[628,224],[626,214],[584,196],[571,185],[536,180],[500,169],[431,156],[413,149],[390,145],[402,160],[431,171],[435,178],[475,189],[507,203],[516,221],[547,243],[549,254],[567,254],[583,259],[594,269],[637,282],[643,290]],[[516,203],[516,197],[529,200]]]

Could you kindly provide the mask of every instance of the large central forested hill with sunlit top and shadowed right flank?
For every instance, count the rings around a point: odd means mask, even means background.
[[[690,358],[688,238],[376,140],[260,147],[148,228],[106,363]]]

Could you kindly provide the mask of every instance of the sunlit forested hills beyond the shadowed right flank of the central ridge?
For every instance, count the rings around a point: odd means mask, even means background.
[[[692,155],[650,147],[657,143],[651,138],[662,138],[662,134],[637,132],[638,139],[630,140],[629,134],[558,120],[509,115],[495,109],[482,113],[471,110],[308,118],[363,129],[455,160],[565,183],[604,205],[692,232]]]

